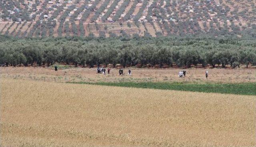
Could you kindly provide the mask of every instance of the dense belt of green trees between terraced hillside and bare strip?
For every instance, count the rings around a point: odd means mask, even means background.
[[[233,68],[256,65],[256,40],[239,38],[30,38],[0,36],[0,64],[50,66],[55,62],[90,66],[112,64]]]

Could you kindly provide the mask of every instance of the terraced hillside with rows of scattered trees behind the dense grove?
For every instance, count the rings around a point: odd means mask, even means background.
[[[254,0],[2,0],[0,34],[214,36],[256,29]]]

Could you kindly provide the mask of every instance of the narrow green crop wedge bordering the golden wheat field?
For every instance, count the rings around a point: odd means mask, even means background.
[[[178,91],[196,91],[207,93],[228,93],[238,95],[256,95],[256,83],[153,83],[153,82],[119,82],[119,83],[88,83],[88,82],[72,82],[79,84],[92,84],[92,85],[106,85],[118,87],[136,87],[136,88],[149,88],[149,89],[166,89]]]

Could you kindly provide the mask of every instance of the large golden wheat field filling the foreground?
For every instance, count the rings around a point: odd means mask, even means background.
[[[1,147],[256,146],[256,97],[1,78]]]

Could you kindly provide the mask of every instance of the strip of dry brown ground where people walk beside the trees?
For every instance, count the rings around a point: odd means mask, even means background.
[[[42,81],[54,81],[54,77],[58,82],[66,81],[187,81],[204,83],[205,70],[200,68],[186,69],[186,78],[178,78],[178,72],[182,69],[147,69],[147,68],[132,68],[132,76],[128,76],[128,69],[124,69],[123,76],[118,75],[118,69],[111,69],[110,75],[96,74],[96,68],[69,68],[65,70],[54,71],[53,68],[40,67],[1,67],[0,77],[11,77],[16,79],[32,79]],[[220,83],[242,83],[242,82],[256,82],[255,68],[240,68],[240,69],[208,69],[209,82]]]

